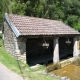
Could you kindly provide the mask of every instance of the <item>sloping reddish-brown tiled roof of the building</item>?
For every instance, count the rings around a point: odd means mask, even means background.
[[[21,35],[68,35],[80,34],[61,21],[6,14]]]

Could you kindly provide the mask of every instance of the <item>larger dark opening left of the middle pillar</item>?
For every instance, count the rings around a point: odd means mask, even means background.
[[[45,46],[45,43],[47,46]],[[26,42],[26,59],[31,66],[53,60],[53,39],[29,38]]]

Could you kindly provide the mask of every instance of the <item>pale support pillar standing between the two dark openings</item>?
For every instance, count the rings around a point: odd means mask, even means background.
[[[59,62],[59,43],[58,43],[59,37],[55,37],[53,40],[53,63],[58,63]]]

